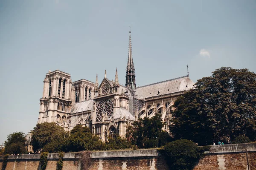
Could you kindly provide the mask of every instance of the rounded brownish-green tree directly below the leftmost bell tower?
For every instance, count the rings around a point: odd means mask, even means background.
[[[35,153],[38,151],[58,152],[65,137],[67,137],[67,133],[63,127],[56,125],[55,122],[45,122],[37,124],[32,130],[31,145]]]

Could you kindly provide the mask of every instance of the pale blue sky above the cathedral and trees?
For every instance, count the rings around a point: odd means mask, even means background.
[[[255,0],[1,0],[0,144],[35,127],[49,69],[125,84],[129,25],[137,85],[256,72]]]

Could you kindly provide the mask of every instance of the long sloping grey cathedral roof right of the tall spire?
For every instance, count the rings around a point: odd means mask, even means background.
[[[150,85],[140,86],[136,88],[135,95],[138,96],[139,99],[145,99],[152,96],[172,94],[179,91],[188,91],[189,89],[193,88],[193,85],[194,82],[192,82],[189,76],[184,76]]]

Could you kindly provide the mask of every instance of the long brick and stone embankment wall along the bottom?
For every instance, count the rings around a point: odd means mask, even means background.
[[[256,167],[256,143],[212,146],[194,170],[246,170]],[[156,149],[100,151],[92,153],[90,170],[169,170],[166,159]],[[40,154],[9,156],[6,170],[39,170]],[[56,170],[58,153],[48,155],[47,170]],[[0,157],[0,169],[3,157]],[[256,169],[256,168],[254,168]],[[80,170],[76,153],[65,153],[62,170]]]

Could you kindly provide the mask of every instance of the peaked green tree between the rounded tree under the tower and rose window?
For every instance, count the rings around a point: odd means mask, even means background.
[[[88,127],[76,125],[71,131],[70,136],[62,144],[65,152],[79,152],[82,150],[100,150],[104,144],[98,136],[94,136]]]

